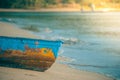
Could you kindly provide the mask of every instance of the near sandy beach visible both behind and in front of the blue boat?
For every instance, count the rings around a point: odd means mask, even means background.
[[[38,38],[31,32],[19,29],[15,24],[0,22],[0,36]],[[104,75],[80,71],[55,62],[45,71],[33,71],[0,67],[0,80],[113,80]]]

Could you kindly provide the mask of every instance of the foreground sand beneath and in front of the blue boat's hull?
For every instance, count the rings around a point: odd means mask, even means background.
[[[0,80],[112,80],[96,73],[71,69],[55,63],[46,72],[0,67]]]

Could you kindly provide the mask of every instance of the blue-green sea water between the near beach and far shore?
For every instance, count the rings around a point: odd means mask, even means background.
[[[120,12],[0,12],[0,21],[62,40],[64,64],[120,80]]]

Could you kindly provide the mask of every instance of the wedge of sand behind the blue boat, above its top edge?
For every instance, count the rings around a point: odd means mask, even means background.
[[[39,38],[30,31],[19,29],[17,25],[0,22],[0,36]]]

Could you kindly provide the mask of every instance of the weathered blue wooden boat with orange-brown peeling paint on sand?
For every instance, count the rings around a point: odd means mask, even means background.
[[[58,56],[61,41],[0,36],[0,66],[45,71]]]

